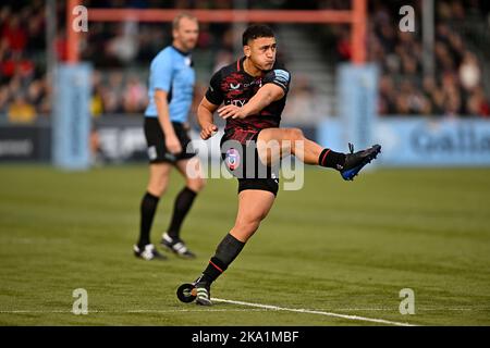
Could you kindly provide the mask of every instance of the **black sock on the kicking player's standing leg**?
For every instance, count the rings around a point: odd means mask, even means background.
[[[199,282],[206,283],[207,285],[215,282],[221,273],[226,271],[228,266],[238,256],[244,246],[245,243],[240,241],[231,234],[224,236],[216,249],[215,256],[209,260],[209,264],[203,272]]]

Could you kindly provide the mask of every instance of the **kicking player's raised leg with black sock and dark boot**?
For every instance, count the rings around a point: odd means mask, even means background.
[[[381,151],[380,145],[375,145],[363,151],[351,153],[335,152],[307,139],[299,128],[267,128],[262,129],[257,139],[257,151],[262,163],[271,165],[280,158],[294,154],[306,164],[321,165],[338,170],[342,177],[352,181],[354,176]]]

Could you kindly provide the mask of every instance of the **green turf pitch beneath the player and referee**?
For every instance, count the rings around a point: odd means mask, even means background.
[[[212,179],[183,237],[198,254],[132,256],[145,165],[84,173],[0,167],[2,325],[373,325],[310,313],[177,301],[236,212],[236,184]],[[173,173],[152,233],[183,182]],[[354,183],[309,170],[275,206],[212,296],[421,325],[490,325],[490,170],[378,170]],[[71,313],[88,291],[88,315]],[[399,293],[415,291],[414,315]]]

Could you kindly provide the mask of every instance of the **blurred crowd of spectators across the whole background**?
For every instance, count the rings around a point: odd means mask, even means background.
[[[490,115],[488,91],[483,88],[483,61],[466,44],[465,37],[451,25],[463,21],[467,12],[480,11],[478,0],[437,1],[434,44],[434,74],[425,74],[420,18],[415,33],[399,29],[399,5],[370,1],[368,55],[379,63],[379,112],[381,114],[433,115]],[[420,0],[413,1],[420,7]],[[57,60],[66,59],[64,35],[64,1],[57,2],[58,30],[54,47]],[[132,8],[203,8],[230,9],[233,1],[160,1],[160,0],[106,0],[84,1],[87,7]],[[345,1],[286,1],[278,0],[275,7],[291,9],[330,8],[346,9]],[[249,7],[267,8],[259,1],[248,1]],[[416,9],[419,13],[420,9]],[[473,13],[471,12],[471,13]],[[482,11],[480,11],[482,12]],[[483,11],[485,12],[485,11]],[[473,13],[474,14],[474,13]],[[477,13],[478,15],[478,13]],[[483,16],[485,13],[479,13]],[[336,30],[336,53],[342,60],[351,57],[348,28]],[[210,74],[231,63],[235,37],[229,24],[201,23],[199,42],[194,57],[198,71],[196,100],[207,88]],[[170,24],[90,23],[83,34],[81,54],[93,62],[91,112],[102,114],[140,114],[147,104],[147,76],[150,60],[162,47],[171,42]],[[46,71],[45,2],[8,1],[0,4],[0,120],[33,122],[48,116],[52,110],[52,90]],[[200,72],[206,72],[200,74]],[[298,76],[299,74],[295,74]],[[289,111],[309,103],[311,84],[304,78],[293,82]],[[317,96],[318,97],[318,96]],[[290,117],[291,119],[291,117]]]

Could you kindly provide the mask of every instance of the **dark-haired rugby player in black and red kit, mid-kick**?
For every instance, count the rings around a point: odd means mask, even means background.
[[[265,25],[249,26],[243,34],[243,58],[211,77],[197,111],[203,139],[218,130],[216,111],[226,120],[221,154],[238,179],[234,226],[193,283],[196,302],[201,306],[212,304],[212,282],[230,266],[269,213],[279,189],[278,162],[282,157],[292,153],[306,164],[332,167],[351,181],[381,150],[375,145],[354,152],[350,145],[351,153],[335,152],[305,138],[298,128],[280,128],[291,73],[275,61],[274,34]],[[247,161],[250,151],[256,160],[253,169]]]

